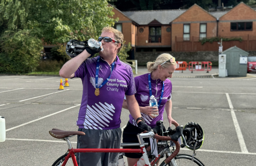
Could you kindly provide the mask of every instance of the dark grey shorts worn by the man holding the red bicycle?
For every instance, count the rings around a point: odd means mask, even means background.
[[[84,136],[77,136],[77,148],[120,148],[121,128],[94,130],[79,128]],[[76,153],[78,166],[116,166],[119,153]]]

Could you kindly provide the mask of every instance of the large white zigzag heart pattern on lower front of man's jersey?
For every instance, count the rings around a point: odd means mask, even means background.
[[[99,128],[102,130],[101,127],[108,127],[109,126],[108,123],[113,120],[112,113],[115,113],[115,111],[113,110],[115,109],[115,107],[112,104],[109,105],[106,102],[104,103],[105,105],[102,104],[101,102],[99,102],[99,104],[101,106],[95,103],[98,109],[93,105],[91,107],[87,105],[85,122],[84,122],[85,128],[86,127],[89,129]]]

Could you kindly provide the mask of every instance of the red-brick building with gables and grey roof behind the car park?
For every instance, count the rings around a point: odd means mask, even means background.
[[[243,2],[232,10],[207,12],[194,4],[188,10],[124,11],[113,9],[119,18],[126,44],[136,52],[175,51],[175,37],[186,41],[202,38],[256,36],[256,11]],[[198,47],[199,48],[199,47]]]

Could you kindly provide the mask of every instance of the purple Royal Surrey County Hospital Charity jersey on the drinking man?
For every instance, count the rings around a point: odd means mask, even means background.
[[[109,81],[103,85],[100,95],[95,96],[95,72],[98,57],[87,59],[76,70],[75,77],[83,83],[83,95],[76,125],[86,129],[114,129],[120,127],[120,115],[125,94],[136,93],[132,69],[116,57]],[[100,58],[98,86],[111,73],[111,66]]]

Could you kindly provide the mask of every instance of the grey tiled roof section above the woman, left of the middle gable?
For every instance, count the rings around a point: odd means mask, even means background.
[[[186,10],[142,10],[142,11],[123,11],[123,13],[137,22],[139,25],[147,25],[154,19],[161,24],[170,24],[175,18],[179,17]]]

